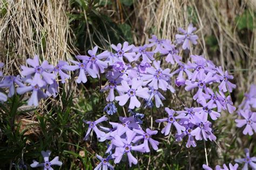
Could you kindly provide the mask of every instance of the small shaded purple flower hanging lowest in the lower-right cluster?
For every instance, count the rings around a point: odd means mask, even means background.
[[[181,140],[183,140],[184,137],[187,136],[188,138],[187,138],[186,147],[187,148],[190,148],[191,146],[196,147],[197,143],[196,143],[196,141],[194,141],[194,138],[191,135],[191,132],[193,131],[193,127],[194,127],[193,124],[185,125],[186,130],[184,132],[182,132],[181,134],[175,135],[176,141],[181,141]]]

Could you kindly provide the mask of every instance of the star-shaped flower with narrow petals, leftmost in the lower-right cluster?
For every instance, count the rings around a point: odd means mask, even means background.
[[[175,116],[175,111],[165,107],[165,111],[168,113],[169,117],[168,118],[164,118],[164,119],[157,119],[156,123],[161,123],[164,121],[167,121],[167,125],[163,128],[163,130],[161,131],[161,133],[164,133],[165,135],[168,135],[170,133],[171,130],[171,126],[172,124],[175,126],[177,133],[181,134],[181,131],[185,131],[185,127],[181,126],[178,122],[177,119],[180,118],[184,118],[185,114],[184,113],[180,113],[179,115]]]

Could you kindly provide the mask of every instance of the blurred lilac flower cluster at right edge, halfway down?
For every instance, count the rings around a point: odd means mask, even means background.
[[[256,132],[256,85],[251,85],[250,91],[245,94],[245,98],[238,108],[238,115],[240,119],[235,119],[237,127],[243,127],[243,134],[253,135]],[[253,132],[254,131],[254,132]]]

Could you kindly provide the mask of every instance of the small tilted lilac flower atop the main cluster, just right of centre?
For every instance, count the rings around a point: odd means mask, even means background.
[[[134,47],[133,52],[137,52],[136,57],[134,60],[138,60],[140,56],[142,56],[142,62],[144,63],[152,63],[151,61],[154,60],[154,52],[146,51],[147,44],[139,47]]]

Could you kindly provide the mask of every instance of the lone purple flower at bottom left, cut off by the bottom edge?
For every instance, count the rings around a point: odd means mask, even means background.
[[[51,151],[49,150],[47,150],[46,152],[41,151],[41,153],[44,157],[44,163],[39,164],[39,162],[33,160],[33,164],[30,165],[32,168],[44,167],[44,170],[48,170],[48,169],[52,170],[53,168],[51,166],[53,165],[62,166],[62,162],[59,161],[59,157],[55,157],[53,158],[53,160],[49,162]]]

